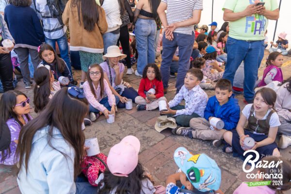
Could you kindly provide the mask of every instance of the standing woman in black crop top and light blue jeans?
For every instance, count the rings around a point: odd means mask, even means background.
[[[157,24],[155,19],[159,17],[157,9],[161,0],[139,0],[135,11],[135,38],[136,48],[139,54],[137,59],[136,76],[142,77],[147,64],[155,63],[155,37]]]

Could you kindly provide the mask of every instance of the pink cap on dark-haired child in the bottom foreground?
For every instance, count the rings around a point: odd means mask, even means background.
[[[107,157],[109,171],[118,177],[128,177],[138,163],[140,141],[132,136],[126,136],[119,144],[114,145]]]

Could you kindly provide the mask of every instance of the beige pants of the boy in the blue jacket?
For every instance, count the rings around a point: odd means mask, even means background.
[[[210,123],[205,118],[193,118],[190,120],[190,127],[195,129],[192,131],[193,138],[202,140],[223,139],[226,129],[211,130]]]

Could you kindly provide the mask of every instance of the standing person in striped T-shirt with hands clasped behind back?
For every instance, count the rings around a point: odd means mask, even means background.
[[[199,23],[202,9],[203,0],[162,0],[160,3],[158,13],[162,25],[165,27],[165,34],[162,38],[161,64],[164,93],[168,88],[170,65],[177,47],[179,47],[177,90],[184,84],[194,45],[194,24]],[[167,10],[167,14],[165,10]]]

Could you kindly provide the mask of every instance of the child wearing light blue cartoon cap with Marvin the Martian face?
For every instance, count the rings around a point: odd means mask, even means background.
[[[174,160],[181,172],[167,178],[166,194],[223,194],[219,189],[221,170],[209,156],[193,155],[186,148],[178,147]]]

